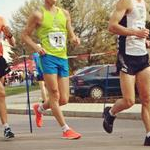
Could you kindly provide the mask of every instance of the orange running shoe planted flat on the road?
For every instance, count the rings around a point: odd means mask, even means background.
[[[72,129],[69,129],[66,132],[63,132],[62,138],[63,139],[69,139],[69,140],[79,139],[79,138],[81,138],[81,134],[75,132]]]

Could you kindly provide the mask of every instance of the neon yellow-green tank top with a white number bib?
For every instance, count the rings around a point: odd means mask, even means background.
[[[43,20],[37,29],[37,37],[46,54],[67,59],[67,19],[62,9],[55,15],[42,7]]]

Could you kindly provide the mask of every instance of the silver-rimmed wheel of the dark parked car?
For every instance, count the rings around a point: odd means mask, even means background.
[[[103,90],[100,87],[93,87],[90,90],[90,97],[93,99],[100,99],[103,96]]]

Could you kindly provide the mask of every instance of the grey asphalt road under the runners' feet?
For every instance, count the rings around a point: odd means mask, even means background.
[[[32,116],[34,120],[34,116]],[[145,130],[140,120],[116,120],[114,132],[107,134],[100,118],[66,118],[68,124],[82,134],[79,140],[61,139],[61,128],[53,117],[44,116],[44,126],[37,128],[33,121],[30,133],[27,115],[9,115],[16,134],[4,141],[1,126],[0,150],[145,150],[142,146]]]

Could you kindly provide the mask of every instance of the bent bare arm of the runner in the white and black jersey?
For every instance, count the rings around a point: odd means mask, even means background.
[[[110,20],[109,20],[109,31],[118,35],[124,36],[137,36],[139,38],[145,38],[149,34],[148,29],[132,29],[126,28],[119,24],[121,19],[132,10],[131,0],[120,0],[116,9],[113,12]]]

